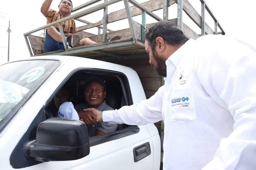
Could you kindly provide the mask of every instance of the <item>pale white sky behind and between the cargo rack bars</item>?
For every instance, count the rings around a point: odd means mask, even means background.
[[[82,3],[88,2],[73,0],[73,7],[79,6]],[[142,3],[147,0],[137,0]],[[24,33],[32,31],[40,26],[46,25],[46,19],[41,14],[40,8],[44,0],[8,0],[1,2],[0,6],[0,64],[7,62],[8,56],[8,24],[10,21],[10,41],[9,41],[9,60],[15,61],[24,58],[29,58],[30,54],[26,46]],[[60,0],[53,0],[51,8],[58,9]],[[102,3],[102,1],[96,3]],[[199,14],[201,14],[200,0],[189,0]],[[237,38],[247,45],[256,49],[256,1],[255,0],[205,0],[208,7],[212,10],[212,13],[217,18],[218,22],[224,29],[226,36]],[[132,5],[130,5],[132,6]],[[90,8],[89,6],[87,8]],[[85,9],[87,9],[85,8]],[[124,3],[113,4],[108,7],[108,13],[113,11],[124,9]],[[84,10],[84,9],[82,9]],[[79,10],[78,12],[82,11]],[[155,11],[160,18],[163,17],[163,11]],[[103,10],[86,15],[82,19],[95,23],[101,20],[103,17]],[[169,7],[169,19],[177,18],[177,5],[174,4]],[[133,17],[133,20],[141,23],[141,15]],[[147,24],[154,23],[156,20],[147,15]],[[201,34],[201,29],[193,23],[192,20],[183,12],[183,22],[191,27],[196,33]],[[206,22],[212,30],[214,30],[214,21],[209,14],[206,14]],[[77,26],[85,25],[76,21]],[[108,28],[112,30],[120,30],[128,28],[128,20],[121,20],[118,22],[108,24]],[[97,28],[91,28],[86,30],[90,33],[97,34]],[[220,31],[218,29],[218,31]],[[42,35],[43,31],[38,31],[34,35]]]

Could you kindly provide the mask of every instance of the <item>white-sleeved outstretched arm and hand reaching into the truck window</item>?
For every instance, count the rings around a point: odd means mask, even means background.
[[[93,108],[85,109],[95,115],[97,122],[125,123],[129,125],[144,125],[162,120],[162,97],[164,86],[149,99],[139,104],[123,106],[119,110],[99,111]]]

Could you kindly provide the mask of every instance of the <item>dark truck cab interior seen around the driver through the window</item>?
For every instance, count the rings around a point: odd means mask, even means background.
[[[65,86],[68,88],[70,97],[73,99],[71,102],[74,106],[80,103],[86,103],[83,90],[84,82],[89,76],[97,76],[106,83],[107,95],[105,101],[110,107],[119,109],[125,105],[132,105],[131,92],[127,78],[125,75],[113,71],[81,69],[65,80],[63,85],[56,89],[54,94],[56,95],[59,90]],[[45,119],[57,116],[58,110],[54,104],[54,94],[45,105]],[[117,131],[127,127],[131,127],[131,125],[120,124]]]

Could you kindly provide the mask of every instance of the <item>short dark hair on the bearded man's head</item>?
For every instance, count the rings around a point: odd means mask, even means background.
[[[167,44],[173,46],[184,44],[189,40],[189,38],[170,21],[159,21],[146,32],[145,39],[148,41],[148,45],[153,52],[155,52],[156,37],[162,37]]]

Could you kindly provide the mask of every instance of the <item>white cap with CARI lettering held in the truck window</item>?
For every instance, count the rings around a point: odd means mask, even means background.
[[[57,117],[79,120],[78,113],[71,102],[64,102],[60,105]]]

